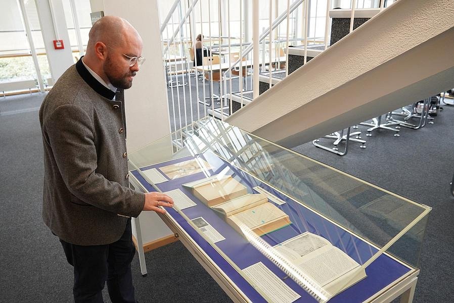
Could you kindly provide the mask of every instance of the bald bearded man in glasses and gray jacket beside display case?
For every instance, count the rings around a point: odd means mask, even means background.
[[[107,16],[89,32],[86,55],[44,98],[42,217],[74,267],[75,302],[103,302],[107,280],[115,302],[135,302],[131,222],[141,211],[165,213],[172,199],[128,188],[124,105],[144,61],[142,39],[125,20]]]

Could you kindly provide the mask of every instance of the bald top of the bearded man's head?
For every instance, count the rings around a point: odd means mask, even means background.
[[[98,41],[121,47],[131,40],[142,41],[142,38],[129,22],[117,16],[105,16],[96,21],[88,33],[87,55]]]

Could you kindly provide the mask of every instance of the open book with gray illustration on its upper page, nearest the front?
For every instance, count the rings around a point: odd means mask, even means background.
[[[335,295],[366,277],[364,268],[324,237],[305,232],[276,246],[304,276]]]

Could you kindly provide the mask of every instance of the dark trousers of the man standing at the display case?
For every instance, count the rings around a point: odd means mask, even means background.
[[[112,303],[135,302],[131,262],[135,247],[132,243],[131,222],[121,238],[106,245],[75,245],[60,239],[68,263],[74,267],[74,302],[103,301],[107,288]]]

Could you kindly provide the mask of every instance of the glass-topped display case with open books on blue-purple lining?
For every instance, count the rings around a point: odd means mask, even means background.
[[[235,126],[205,118],[128,158],[235,300],[372,301],[418,274],[429,207]]]

